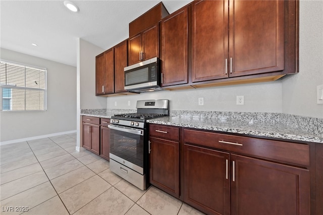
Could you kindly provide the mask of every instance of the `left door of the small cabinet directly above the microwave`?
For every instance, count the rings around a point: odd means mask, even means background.
[[[141,61],[141,33],[128,39],[128,65],[133,65]]]

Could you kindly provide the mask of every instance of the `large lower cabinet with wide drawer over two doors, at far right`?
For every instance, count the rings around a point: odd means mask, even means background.
[[[309,160],[308,145],[254,140],[184,129],[184,201],[207,214],[310,214],[306,167],[282,164],[293,159],[287,154],[276,163],[235,153],[256,155],[265,150],[270,158],[280,154],[279,150],[295,151],[302,154],[305,160],[300,163],[305,164]],[[225,151],[210,148],[211,144]],[[249,151],[251,148],[253,151]]]

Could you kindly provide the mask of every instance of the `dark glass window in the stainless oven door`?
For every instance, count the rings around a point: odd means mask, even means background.
[[[110,129],[110,153],[143,168],[143,136]]]

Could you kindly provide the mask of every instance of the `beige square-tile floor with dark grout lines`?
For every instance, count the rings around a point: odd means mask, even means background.
[[[1,146],[0,214],[202,214],[153,186],[134,187],[75,146],[75,133]]]

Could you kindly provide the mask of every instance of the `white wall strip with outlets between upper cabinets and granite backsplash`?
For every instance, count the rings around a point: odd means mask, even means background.
[[[244,95],[244,105],[236,105],[237,95]],[[204,105],[198,105],[199,97]],[[107,98],[107,108],[135,109],[136,101],[143,99],[169,99],[171,110],[282,112],[281,81],[113,96]]]

